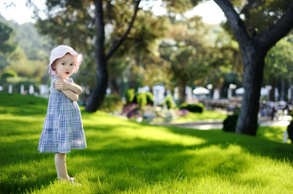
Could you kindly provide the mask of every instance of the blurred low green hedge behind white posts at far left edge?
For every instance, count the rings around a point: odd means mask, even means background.
[[[21,85],[24,86],[24,90],[29,89],[30,85],[34,86],[34,91],[39,92],[40,83],[35,79],[31,79],[28,77],[9,77],[6,79],[6,82],[3,84],[3,90],[8,91],[9,85],[12,85],[12,92],[13,93],[20,93]]]

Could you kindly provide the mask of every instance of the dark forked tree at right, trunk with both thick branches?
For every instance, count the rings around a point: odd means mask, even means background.
[[[272,46],[287,35],[293,27],[293,0],[286,14],[269,29],[257,34],[255,30],[248,35],[243,20],[229,0],[214,0],[226,15],[230,28],[239,43],[244,62],[244,88],[236,133],[256,135],[259,97],[263,79],[264,58]]]

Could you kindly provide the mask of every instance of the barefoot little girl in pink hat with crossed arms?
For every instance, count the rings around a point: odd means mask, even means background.
[[[69,76],[79,69],[83,55],[71,47],[60,45],[52,50],[49,73],[51,77],[47,115],[43,123],[38,151],[55,154],[57,178],[74,184],[67,174],[65,158],[71,149],[86,148],[81,112],[77,104],[80,86]]]

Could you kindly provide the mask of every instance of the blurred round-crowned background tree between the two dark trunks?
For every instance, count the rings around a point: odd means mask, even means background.
[[[179,87],[179,103],[184,103],[185,89],[189,84],[202,82],[210,71],[211,55],[209,35],[211,28],[205,25],[202,18],[185,18],[174,20],[168,38],[161,43],[161,57],[169,62],[167,73],[172,75],[173,86]],[[169,75],[169,76],[170,76]],[[197,83],[197,84],[198,84]],[[196,85],[197,85],[196,84]]]

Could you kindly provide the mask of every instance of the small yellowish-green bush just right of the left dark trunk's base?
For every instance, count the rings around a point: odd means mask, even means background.
[[[112,94],[105,96],[105,99],[100,106],[100,110],[112,113],[121,112],[122,108],[123,103],[121,97]]]

